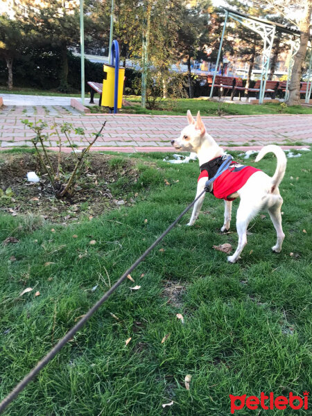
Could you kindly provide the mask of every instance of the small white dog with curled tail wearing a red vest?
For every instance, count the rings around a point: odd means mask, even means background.
[[[177,150],[186,150],[195,152],[198,155],[200,164],[200,177],[198,178],[198,187],[196,197],[205,189],[209,173],[210,177],[214,176],[218,167],[223,162],[223,149],[216,144],[216,141],[206,132],[206,128],[200,112],[198,112],[196,121],[193,119],[191,112],[188,110],[187,119],[189,125],[185,127],[179,139],[172,140],[171,144]],[[273,177],[252,166],[243,166],[232,162],[229,168],[215,180],[213,189],[216,198],[225,200],[224,224],[222,232],[229,229],[232,212],[232,200],[237,197],[241,198],[239,208],[236,214],[236,229],[239,234],[239,245],[232,256],[227,257],[230,263],[235,263],[239,259],[243,248],[247,244],[246,231],[250,220],[256,216],[260,210],[266,209],[277,232],[277,243],[272,247],[274,252],[281,251],[285,234],[281,228],[281,205],[283,199],[279,194],[279,184],[284,177],[286,170],[286,156],[279,146],[269,145],[263,147],[256,162],[262,159],[267,153],[275,153],[277,157],[277,168]],[[205,193],[198,199],[193,207],[193,213],[188,225],[193,225],[198,218]]]

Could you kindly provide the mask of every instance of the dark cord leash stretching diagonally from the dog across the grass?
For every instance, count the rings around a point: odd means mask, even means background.
[[[211,179],[214,179],[214,178],[211,178]],[[26,385],[28,385],[28,383],[30,383],[30,381],[40,372],[40,370],[42,370],[42,368],[46,364],[48,364],[49,361],[51,361],[52,358],[54,358],[56,354],[58,354],[60,349],[62,349],[62,347],[64,347],[64,345],[69,340],[71,340],[71,338],[73,338],[75,333],[77,331],[79,331],[79,329],[81,327],[83,327],[83,325],[85,324],[85,322],[87,322],[87,320],[89,320],[89,318],[92,317],[92,315],[98,310],[98,308],[101,306],[101,304],[103,304],[105,302],[105,300],[107,300],[107,298],[110,297],[110,295],[112,295],[112,293],[114,291],[116,291],[116,288],[118,288],[118,286],[123,282],[123,280],[125,280],[126,277],[132,272],[132,270],[134,270],[139,265],[139,263],[141,263],[141,261],[143,261],[146,258],[146,256],[153,250],[153,248],[155,248],[160,243],[160,241],[162,241],[162,239],[164,239],[164,237],[168,234],[168,232],[171,231],[171,229],[173,229],[173,227],[178,223],[178,221],[182,218],[182,216],[184,216],[184,214],[187,214],[187,211],[189,211],[189,209],[191,209],[191,207],[193,207],[195,202],[205,192],[206,192],[206,189],[204,189],[204,191],[202,191],[202,193],[200,193],[200,195],[195,200],[193,200],[193,202],[191,202],[191,204],[187,208],[184,209],[182,214],[180,214],[177,217],[177,219],[174,220],[171,225],[169,225],[169,227],[166,229],[166,231],[164,231],[162,233],[162,235],[159,236],[158,239],[156,241],[154,241],[154,243],[152,245],[150,245],[150,247],[141,255],[141,257],[139,257],[139,259],[137,259],[137,261],[135,261],[135,263],[133,263],[132,266],[130,266],[130,268],[128,268],[128,270],[123,273],[123,275],[116,281],[116,283],[110,288],[110,290],[107,291],[103,295],[103,297],[101,297],[101,299],[98,300],[98,302],[96,302],[96,304],[94,304],[94,306],[92,306],[91,309],[89,309],[89,311],[87,311],[85,316],[83,316],[83,318],[81,318],[76,323],[76,325],[73,328],[71,328],[62,339],[60,339],[58,341],[58,343],[48,352],[48,354],[46,354],[46,356],[44,356],[44,358],[42,358],[42,360],[40,360],[35,367],[33,367],[33,370],[28,372],[28,374],[24,377],[24,379],[21,380],[15,386],[15,388],[8,394],[8,396],[6,396],[3,399],[3,401],[1,401],[1,403],[0,403],[0,413],[3,413],[3,411],[6,410],[7,406],[11,403],[11,401],[13,401],[15,399],[15,397],[17,397],[17,395],[19,395],[19,393],[22,390],[24,390],[24,388],[26,388]]]

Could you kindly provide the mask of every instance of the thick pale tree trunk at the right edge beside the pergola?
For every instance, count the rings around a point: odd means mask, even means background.
[[[310,35],[310,21],[312,12],[312,0],[306,0],[304,4],[304,16],[300,21],[300,48],[295,54],[293,69],[291,71],[291,82],[289,84],[289,96],[286,103],[288,105],[300,105],[300,78],[302,73],[302,64],[306,57],[306,47]]]

